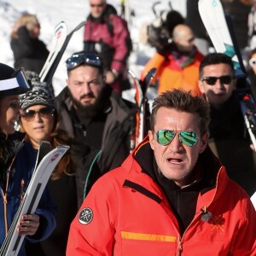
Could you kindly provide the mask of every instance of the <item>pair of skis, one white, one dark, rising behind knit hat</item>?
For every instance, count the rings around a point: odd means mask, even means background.
[[[67,34],[67,25],[64,21],[61,21],[56,27],[54,32],[54,38],[52,43],[52,49],[50,50],[49,56],[44,63],[44,67],[39,74],[40,81],[50,84],[57,67],[61,61],[61,57],[67,49],[67,45],[70,39],[73,37],[73,33],[77,32],[85,24],[85,20],[80,22],[73,31]]]

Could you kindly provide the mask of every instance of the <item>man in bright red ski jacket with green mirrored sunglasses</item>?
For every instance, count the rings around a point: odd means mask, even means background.
[[[207,147],[202,96],[154,99],[151,130],[99,179],[69,231],[73,255],[254,255],[256,212]]]

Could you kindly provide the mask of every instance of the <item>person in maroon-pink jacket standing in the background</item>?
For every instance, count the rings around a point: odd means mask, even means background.
[[[131,52],[131,38],[126,21],[106,0],[90,0],[90,15],[84,26],[84,50],[102,57],[106,83],[121,93],[130,89],[125,75]]]

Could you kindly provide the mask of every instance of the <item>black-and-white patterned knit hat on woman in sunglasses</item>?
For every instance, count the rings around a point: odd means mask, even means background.
[[[34,105],[45,105],[55,108],[55,96],[49,85],[40,82],[37,73],[26,71],[27,79],[31,80],[32,90],[20,95],[20,107],[26,109]]]

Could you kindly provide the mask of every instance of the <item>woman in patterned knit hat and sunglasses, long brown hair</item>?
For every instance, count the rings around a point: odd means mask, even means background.
[[[32,79],[32,90],[20,96],[20,131],[26,132],[26,141],[38,150],[40,141],[48,141],[52,148],[73,142],[65,131],[59,129],[59,117],[55,111],[55,96],[38,75],[26,72]],[[69,225],[77,212],[77,194],[74,179],[75,166],[70,151],[63,156],[52,173],[48,189],[57,206],[56,229],[48,239],[39,243],[27,243],[27,255],[65,255]],[[56,241],[58,241],[56,243]]]

